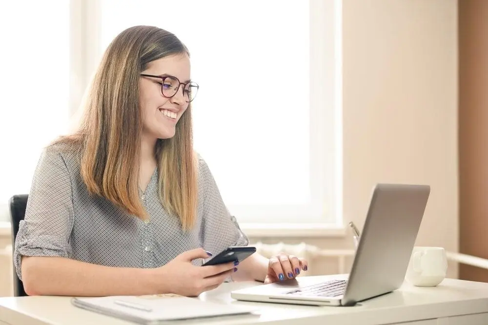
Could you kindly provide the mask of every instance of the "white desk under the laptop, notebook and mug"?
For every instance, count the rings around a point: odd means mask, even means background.
[[[324,276],[324,280],[328,278]],[[487,325],[488,283],[446,279],[438,287],[411,287],[374,298],[353,307],[316,307],[250,303],[230,298],[230,291],[255,282],[223,284],[203,293],[199,299],[223,304],[254,305],[257,315],[225,316],[213,319],[164,322],[201,325]],[[70,297],[0,298],[0,325],[128,325],[134,324],[71,305]],[[184,306],[182,306],[184,307]]]

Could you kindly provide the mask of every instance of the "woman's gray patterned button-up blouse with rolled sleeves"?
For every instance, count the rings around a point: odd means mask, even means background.
[[[193,230],[183,231],[179,218],[163,208],[157,184],[156,169],[141,193],[150,216],[143,222],[105,198],[88,193],[75,153],[60,145],[45,149],[15,241],[14,263],[20,279],[21,255],[61,256],[112,267],[156,268],[185,250],[202,247],[216,254],[228,246],[248,244],[201,157]],[[202,260],[193,263],[199,265]]]

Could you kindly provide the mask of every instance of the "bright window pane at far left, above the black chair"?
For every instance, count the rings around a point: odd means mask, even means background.
[[[69,1],[2,1],[0,30],[1,221],[9,198],[28,193],[42,148],[67,129]]]

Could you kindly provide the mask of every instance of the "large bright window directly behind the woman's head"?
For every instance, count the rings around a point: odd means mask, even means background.
[[[200,85],[195,149],[230,212],[241,223],[342,223],[339,0],[72,0],[71,6],[71,46],[79,48],[71,53],[72,102],[123,29],[144,24],[173,32],[189,48],[192,79]],[[52,37],[66,47],[67,36]],[[52,78],[45,84],[61,80]]]

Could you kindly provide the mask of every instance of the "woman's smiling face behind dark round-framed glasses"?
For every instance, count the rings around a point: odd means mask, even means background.
[[[190,80],[190,58],[186,54],[163,57],[150,62],[142,73],[174,76],[181,82],[187,83]],[[154,141],[173,137],[176,133],[176,124],[188,108],[183,95],[183,85],[174,96],[167,98],[161,92],[162,83],[163,79],[158,77],[141,76],[140,79],[142,136]]]

